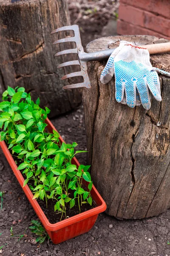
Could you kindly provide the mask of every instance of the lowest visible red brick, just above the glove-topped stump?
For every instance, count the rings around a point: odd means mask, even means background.
[[[149,29],[145,29],[145,28],[127,23],[123,20],[118,20],[117,22],[117,33],[119,35],[154,35],[158,38],[166,38],[170,40],[170,37],[164,36],[162,34],[159,34]]]

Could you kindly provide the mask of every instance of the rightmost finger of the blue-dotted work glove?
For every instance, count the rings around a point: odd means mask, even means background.
[[[161,101],[161,91],[160,91],[160,82],[159,76],[155,71],[151,71],[150,74],[147,76],[147,85],[153,94],[153,97],[157,101]]]

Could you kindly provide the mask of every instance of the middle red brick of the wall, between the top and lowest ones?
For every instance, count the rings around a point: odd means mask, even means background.
[[[170,19],[121,3],[119,19],[170,36]]]

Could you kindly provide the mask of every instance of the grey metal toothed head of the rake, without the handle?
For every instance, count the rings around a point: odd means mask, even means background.
[[[57,52],[55,54],[55,56],[59,56],[62,54],[68,54],[68,53],[77,53],[78,60],[64,62],[64,63],[60,64],[57,68],[66,67],[66,66],[70,66],[70,65],[79,65],[81,68],[81,71],[67,74],[67,75],[63,76],[61,79],[64,80],[64,79],[68,79],[68,78],[75,77],[75,76],[82,76],[84,81],[82,83],[78,83],[78,84],[66,85],[63,88],[64,89],[72,89],[72,88],[79,88],[79,87],[91,88],[90,81],[88,78],[86,61],[80,60],[80,55],[84,53],[84,49],[82,47],[82,42],[81,42],[81,38],[80,38],[79,26],[78,25],[64,26],[64,27],[55,29],[53,32],[51,32],[51,34],[54,34],[54,33],[60,32],[60,31],[65,31],[65,30],[73,30],[74,37],[62,38],[62,39],[55,41],[53,44],[60,44],[60,43],[65,43],[65,42],[75,42],[76,48],[67,49],[67,50],[64,50],[61,52]]]

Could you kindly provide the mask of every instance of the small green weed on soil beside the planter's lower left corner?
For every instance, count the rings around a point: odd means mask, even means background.
[[[29,229],[32,233],[38,236],[35,241],[39,242],[40,244],[42,244],[46,238],[50,239],[44,227],[41,225],[39,221],[32,220]]]

